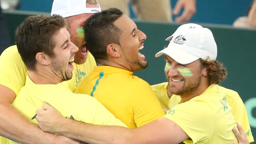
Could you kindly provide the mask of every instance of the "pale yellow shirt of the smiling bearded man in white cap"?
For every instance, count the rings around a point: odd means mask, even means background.
[[[237,142],[231,109],[219,86],[210,85],[199,96],[167,111],[164,118],[178,124],[189,136],[185,144],[227,144]]]

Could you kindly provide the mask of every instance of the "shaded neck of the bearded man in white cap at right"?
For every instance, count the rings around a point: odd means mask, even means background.
[[[195,98],[196,96],[199,96],[200,94],[202,94],[204,90],[206,90],[208,87],[209,87],[208,81],[207,79],[204,79],[202,80],[202,82],[200,83],[199,87],[196,90],[187,92],[186,94],[182,94],[180,95],[180,98],[182,102],[187,102],[192,98]]]

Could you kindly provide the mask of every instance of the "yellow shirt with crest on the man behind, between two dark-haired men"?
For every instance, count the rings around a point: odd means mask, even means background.
[[[76,90],[78,83],[93,70],[93,67],[96,66],[96,62],[93,55],[89,53],[84,64],[77,65],[73,63],[73,66],[72,79],[65,81],[65,83],[69,83],[69,88],[72,92]],[[27,71],[17,46],[14,45],[6,48],[0,56],[0,85],[8,87],[17,95],[20,88],[25,84]]]

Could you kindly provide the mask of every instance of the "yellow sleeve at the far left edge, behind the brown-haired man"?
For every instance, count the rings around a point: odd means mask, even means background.
[[[13,90],[15,94],[25,85],[27,68],[23,63],[17,46],[4,50],[0,56],[0,84]]]

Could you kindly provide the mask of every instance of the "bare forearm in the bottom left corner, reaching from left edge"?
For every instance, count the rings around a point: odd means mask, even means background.
[[[48,144],[56,136],[45,133],[9,103],[0,103],[0,135],[24,144]]]

